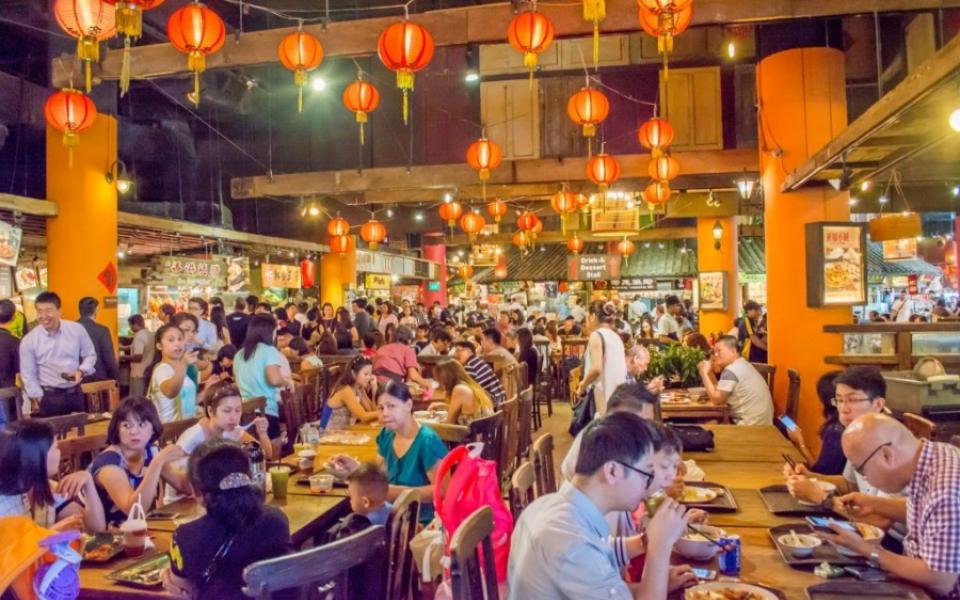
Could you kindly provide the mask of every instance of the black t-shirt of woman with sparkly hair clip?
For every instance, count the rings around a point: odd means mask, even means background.
[[[210,582],[201,589],[203,574],[229,534],[210,515],[181,525],[173,534],[173,572],[198,588],[198,600],[246,598],[241,592],[243,570],[250,564],[291,552],[290,523],[279,509],[265,506],[263,514],[240,530],[230,550],[219,560]]]

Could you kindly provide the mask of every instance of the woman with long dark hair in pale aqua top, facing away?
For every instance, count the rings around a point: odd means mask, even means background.
[[[274,345],[277,322],[272,315],[254,315],[243,347],[233,358],[233,378],[244,400],[266,398],[264,412],[271,438],[280,437],[280,392],[293,389],[290,363]]]

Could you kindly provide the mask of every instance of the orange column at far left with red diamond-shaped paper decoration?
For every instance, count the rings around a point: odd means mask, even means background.
[[[62,135],[47,128],[47,199],[57,203],[58,211],[47,220],[49,287],[60,295],[67,319],[79,317],[80,298],[99,300],[97,321],[110,329],[114,344],[116,302],[107,308],[104,300],[116,296],[118,279],[117,189],[106,179],[116,159],[117,121],[109,115],[98,114],[93,127],[80,135],[73,167]]]

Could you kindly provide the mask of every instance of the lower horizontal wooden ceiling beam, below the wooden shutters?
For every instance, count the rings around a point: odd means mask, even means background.
[[[723,175],[731,184],[744,170],[758,169],[757,151],[709,150],[675,154],[684,176]],[[622,179],[648,178],[649,154],[617,157]],[[541,158],[505,162],[490,174],[488,196],[552,194],[563,181],[586,181],[583,157],[564,160]],[[445,191],[471,192],[479,197],[477,173],[466,164],[413,167],[382,167],[357,171],[315,171],[286,175],[239,177],[230,181],[234,199],[264,196],[354,195],[365,202],[401,203],[438,201]],[[508,189],[509,188],[509,189]],[[552,188],[552,189],[551,189]],[[366,195],[365,197],[363,195]]]

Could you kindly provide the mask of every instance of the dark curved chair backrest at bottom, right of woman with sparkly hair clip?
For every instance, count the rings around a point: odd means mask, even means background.
[[[384,597],[386,560],[387,536],[374,525],[330,544],[253,563],[243,570],[243,593],[266,599],[301,588],[308,590],[301,597],[313,598],[324,586],[336,600],[351,597],[351,589],[353,597],[362,592],[362,598],[379,599]]]

